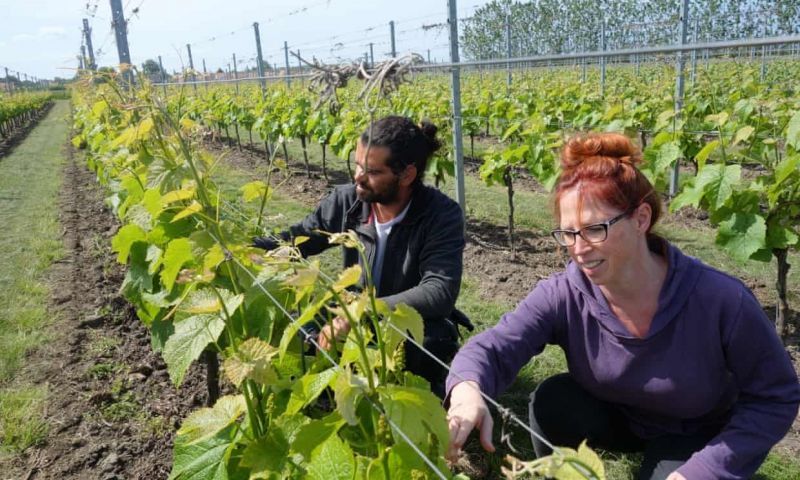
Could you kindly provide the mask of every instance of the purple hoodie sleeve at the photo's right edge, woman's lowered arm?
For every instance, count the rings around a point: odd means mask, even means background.
[[[750,478],[797,415],[800,384],[789,356],[753,295],[722,331],[728,368],[739,387],[728,424],[678,472],[689,480]]]

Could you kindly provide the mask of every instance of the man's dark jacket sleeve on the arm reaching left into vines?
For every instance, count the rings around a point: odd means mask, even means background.
[[[312,213],[299,223],[289,227],[288,230],[278,234],[278,237],[284,242],[292,243],[297,237],[308,237],[308,240],[297,246],[303,257],[327,250],[332,245],[328,242],[328,237],[318,231],[341,233],[346,210],[344,197],[345,195],[339,189],[334,190],[322,199]],[[278,242],[270,237],[255,237],[253,245],[265,250],[273,250],[278,247]]]

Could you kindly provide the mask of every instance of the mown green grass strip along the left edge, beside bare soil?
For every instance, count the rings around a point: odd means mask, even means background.
[[[17,379],[25,357],[47,340],[47,274],[63,256],[58,194],[69,102],[56,102],[23,143],[0,158],[0,441],[19,452],[47,431],[45,387]]]

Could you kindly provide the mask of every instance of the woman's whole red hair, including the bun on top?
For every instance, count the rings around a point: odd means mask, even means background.
[[[589,197],[621,212],[650,205],[650,229],[661,216],[661,201],[653,185],[636,168],[642,152],[625,135],[591,133],[571,138],[561,151],[561,175],[555,189],[556,219],[561,218],[561,197],[579,188],[580,198]]]

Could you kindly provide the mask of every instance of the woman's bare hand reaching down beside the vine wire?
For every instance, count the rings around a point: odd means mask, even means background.
[[[456,461],[461,455],[461,447],[469,437],[473,428],[481,432],[481,445],[487,452],[494,452],[492,445],[492,427],[494,420],[489,407],[480,394],[480,386],[476,382],[466,381],[457,384],[450,391],[450,409],[447,411],[447,424],[450,429],[450,447],[447,458]]]

